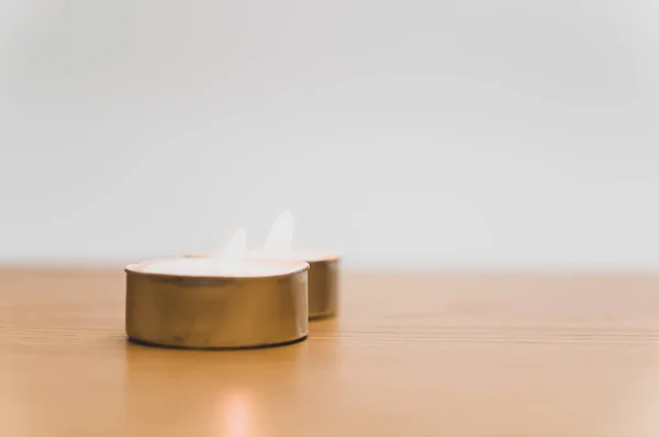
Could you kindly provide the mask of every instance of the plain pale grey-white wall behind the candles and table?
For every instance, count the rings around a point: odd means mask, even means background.
[[[655,269],[658,168],[656,1],[0,0],[2,262]]]

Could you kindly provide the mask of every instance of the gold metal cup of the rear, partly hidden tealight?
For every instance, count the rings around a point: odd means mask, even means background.
[[[267,259],[249,254],[250,259]],[[302,254],[304,255],[304,254]],[[188,258],[208,258],[210,255],[190,254]],[[293,254],[291,258],[295,258]],[[331,256],[301,256],[309,262],[309,318],[319,320],[336,315],[338,310],[338,265],[340,258]]]

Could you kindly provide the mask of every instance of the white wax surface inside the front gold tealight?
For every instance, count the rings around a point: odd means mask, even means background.
[[[236,265],[226,265],[216,258],[180,258],[145,262],[138,271],[190,277],[256,278],[289,274],[303,267],[301,262],[246,260]]]

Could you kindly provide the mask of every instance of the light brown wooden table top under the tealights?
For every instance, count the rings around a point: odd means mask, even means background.
[[[0,270],[0,436],[659,436],[659,277],[346,273],[298,345],[126,343],[118,271]]]

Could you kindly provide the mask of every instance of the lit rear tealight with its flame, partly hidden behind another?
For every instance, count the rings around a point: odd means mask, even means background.
[[[272,223],[261,250],[246,254],[253,260],[298,260],[309,264],[309,318],[331,317],[338,309],[338,255],[292,250],[293,216],[284,211]],[[216,254],[191,254],[191,259],[221,257]]]

